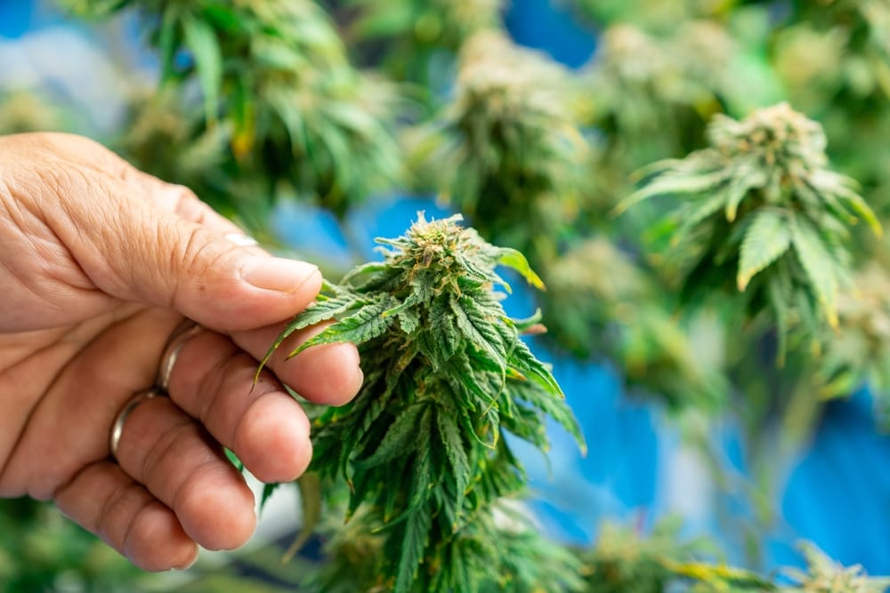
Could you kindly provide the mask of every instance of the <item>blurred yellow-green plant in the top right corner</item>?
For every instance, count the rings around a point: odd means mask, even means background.
[[[819,118],[831,155],[862,182],[879,212],[890,207],[890,7],[870,0],[790,4],[770,36],[789,99]]]

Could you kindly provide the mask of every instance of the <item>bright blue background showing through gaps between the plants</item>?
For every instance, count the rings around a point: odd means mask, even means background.
[[[0,0],[0,41],[65,22],[29,2]],[[582,65],[595,51],[594,36],[546,0],[513,0],[506,23],[516,41],[571,67]],[[371,237],[401,235],[417,210],[433,216],[447,213],[430,200],[393,198],[353,213],[348,224],[370,255]],[[300,243],[311,237],[326,254],[339,251],[347,259],[336,224],[324,214],[289,205],[276,222],[282,236],[300,237]],[[517,291],[507,308],[525,317],[534,310],[533,296]],[[543,351],[539,355],[552,358]],[[658,405],[627,397],[619,378],[605,367],[556,360],[554,374],[584,426],[590,449],[582,458],[570,438],[554,428],[549,464],[536,454],[526,455],[539,495],[535,508],[554,536],[590,542],[603,518],[647,526],[679,509],[687,517],[687,532],[708,534],[722,541],[732,561],[745,561],[741,525],[754,511],[740,494],[707,495],[709,485],[701,482],[676,427]],[[799,565],[792,546],[807,539],[842,563],[862,564],[873,574],[890,573],[890,439],[876,432],[871,406],[865,392],[829,404],[812,443],[795,459],[779,463],[776,473],[784,487],[773,503],[781,517],[772,531],[762,534],[765,556],[754,567]],[[732,419],[715,422],[712,434],[724,469],[744,478],[746,444]]]

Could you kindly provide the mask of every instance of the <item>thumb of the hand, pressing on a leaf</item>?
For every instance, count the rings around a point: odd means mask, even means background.
[[[278,323],[320,291],[316,266],[234,244],[211,228],[132,197],[135,182],[105,180],[111,187],[102,199],[78,200],[88,207],[67,208],[68,224],[56,229],[101,291],[175,309],[221,331]]]

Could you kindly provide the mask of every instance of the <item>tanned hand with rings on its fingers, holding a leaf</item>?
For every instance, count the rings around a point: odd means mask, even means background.
[[[254,497],[222,446],[265,482],[295,479],[309,421],[279,380],[342,405],[361,372],[354,346],[322,346],[272,357],[251,389],[321,276],[225,238],[240,232],[91,140],[0,137],[0,496],[55,501],[146,570],[249,539]],[[170,397],[126,418],[116,462],[111,425],[155,381],[183,317],[204,329],[184,342]]]

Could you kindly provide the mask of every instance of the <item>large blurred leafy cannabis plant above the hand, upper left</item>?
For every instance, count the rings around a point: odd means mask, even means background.
[[[188,114],[175,133],[188,131],[188,143],[222,135],[228,145],[221,161],[211,159],[202,167],[206,181],[200,187],[210,189],[206,197],[215,205],[248,221],[262,220],[271,203],[256,196],[283,195],[343,215],[400,178],[394,138],[398,95],[391,84],[352,68],[333,23],[317,4],[69,2],[81,12],[125,7],[144,12],[161,56],[161,88],[171,93],[164,99]],[[183,54],[190,56],[185,64]],[[190,84],[201,90],[199,111],[188,100]],[[134,156],[151,151],[141,144],[130,148]],[[138,164],[153,171],[153,161]],[[176,175],[176,168],[170,172],[169,180],[189,180]],[[230,185],[247,185],[244,193],[255,196],[232,199]]]

